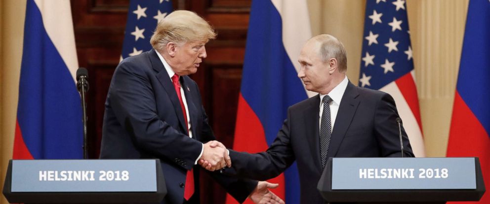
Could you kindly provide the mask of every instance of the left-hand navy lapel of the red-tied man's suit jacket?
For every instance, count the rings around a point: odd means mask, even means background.
[[[177,118],[179,119],[180,127],[182,130],[184,130],[184,134],[188,134],[186,130],[186,125],[184,123],[184,115],[182,113],[182,107],[180,106],[180,101],[179,97],[177,96],[177,93],[175,92],[175,87],[173,86],[172,80],[170,77],[168,77],[168,72],[166,69],[163,67],[162,61],[160,61],[160,58],[158,58],[157,53],[155,50],[151,50],[150,53],[150,61],[152,62],[152,67],[155,71],[157,71],[157,79],[162,84],[163,89],[165,89],[165,92],[168,95],[168,98],[173,104],[173,109],[175,111],[175,114],[177,115]]]

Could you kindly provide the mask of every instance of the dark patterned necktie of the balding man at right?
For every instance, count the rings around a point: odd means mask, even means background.
[[[322,157],[322,169],[325,168],[327,160],[328,145],[332,135],[332,124],[330,121],[330,102],[332,99],[327,95],[323,98],[322,125],[320,127],[320,155]]]

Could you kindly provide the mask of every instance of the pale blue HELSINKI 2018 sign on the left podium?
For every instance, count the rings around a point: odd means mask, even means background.
[[[14,160],[12,192],[154,192],[155,160]]]

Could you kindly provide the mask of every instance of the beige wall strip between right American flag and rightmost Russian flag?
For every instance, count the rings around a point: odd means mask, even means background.
[[[446,156],[468,0],[410,0],[408,21],[427,156]]]

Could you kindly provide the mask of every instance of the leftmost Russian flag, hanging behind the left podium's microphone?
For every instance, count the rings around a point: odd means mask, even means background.
[[[82,158],[82,105],[68,0],[28,0],[13,159]]]

